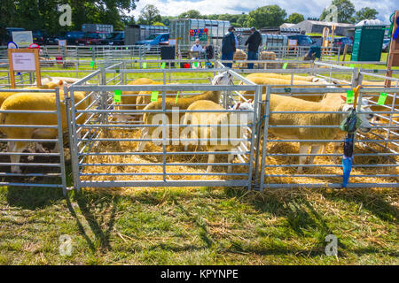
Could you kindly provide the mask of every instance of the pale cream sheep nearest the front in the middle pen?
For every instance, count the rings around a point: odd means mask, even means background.
[[[233,107],[234,110],[253,110],[254,107],[250,103],[238,103]],[[254,115],[251,112],[246,112],[245,116],[237,115],[235,112],[222,112],[224,108],[209,100],[199,100],[192,103],[188,111],[221,111],[221,112],[193,112],[184,115],[184,125],[200,125],[189,126],[184,129],[182,136],[188,137],[192,134],[192,138],[199,137],[200,139],[242,139],[244,125],[253,123]],[[243,125],[243,126],[227,126],[227,125]],[[207,126],[207,125],[222,125],[221,126]],[[225,126],[224,126],[225,125]],[[186,135],[187,134],[187,135]],[[204,141],[200,142],[205,145],[207,151],[238,151],[239,141]],[[234,159],[234,154],[229,154],[228,163]],[[215,155],[209,154],[207,160],[207,173],[212,172],[212,163],[215,162]],[[228,166],[228,173],[232,172],[231,165]]]

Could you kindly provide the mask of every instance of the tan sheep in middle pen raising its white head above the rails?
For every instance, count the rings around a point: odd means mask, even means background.
[[[231,85],[232,84],[232,75],[229,72],[224,72],[215,76],[214,80],[212,80],[213,85]],[[176,103],[175,98],[165,98],[165,109],[171,110],[173,108],[178,108],[179,110],[186,110],[192,103],[197,100],[210,100],[215,103],[219,103],[220,101],[220,91],[207,91],[201,94],[200,96],[192,96],[192,97],[181,97],[178,99]],[[156,102],[149,103],[145,106],[145,111],[150,110],[161,110],[162,109],[162,99],[158,99]],[[153,121],[159,117],[160,113],[151,113],[145,112],[143,116],[143,121],[146,125],[152,125]],[[167,113],[168,121],[172,121],[172,113]],[[183,117],[183,113],[179,113],[179,119]],[[180,121],[180,120],[179,120]],[[141,131],[141,139],[148,138],[155,131],[155,127],[145,127]],[[140,142],[137,148],[138,152],[141,152],[145,149],[145,144],[147,142]]]

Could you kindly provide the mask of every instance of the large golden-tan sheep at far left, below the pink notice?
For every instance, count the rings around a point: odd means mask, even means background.
[[[84,99],[84,92],[74,92],[74,101],[78,103]],[[63,91],[61,91],[61,99],[63,98]],[[90,103],[90,102],[89,102]],[[88,105],[85,101],[77,106],[77,110],[84,110]],[[15,96],[8,97],[2,107],[1,111],[55,111],[56,97],[54,94],[46,93],[19,93]],[[65,105],[61,102],[61,117],[62,129],[66,130],[66,110]],[[86,119],[83,114],[77,119],[78,124]],[[54,139],[58,137],[57,129],[47,128],[27,128],[27,127],[2,127],[1,125],[58,125],[58,119],[55,114],[40,114],[35,112],[30,113],[0,113],[0,131],[3,132],[8,139]],[[9,142],[8,151],[22,152],[27,148],[28,142]],[[56,149],[58,145],[56,144]],[[62,154],[62,153],[61,153]],[[20,163],[20,156],[11,156],[13,164]],[[21,173],[20,165],[12,165],[13,173]]]

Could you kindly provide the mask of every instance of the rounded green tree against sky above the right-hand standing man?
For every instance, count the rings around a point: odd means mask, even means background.
[[[246,20],[247,27],[278,27],[286,19],[286,10],[278,5],[267,5],[250,11]]]

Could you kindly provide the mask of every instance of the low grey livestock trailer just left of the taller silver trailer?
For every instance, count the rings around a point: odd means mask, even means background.
[[[138,41],[143,41],[151,34],[168,33],[168,27],[150,25],[128,25],[125,27],[125,44],[134,45]]]

